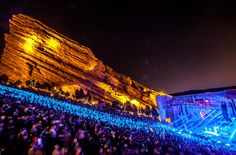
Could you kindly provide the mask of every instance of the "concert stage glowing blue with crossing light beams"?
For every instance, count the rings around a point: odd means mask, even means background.
[[[236,89],[157,97],[163,122],[236,150]]]

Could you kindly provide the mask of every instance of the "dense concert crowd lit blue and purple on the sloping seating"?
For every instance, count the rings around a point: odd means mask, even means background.
[[[16,99],[24,98],[23,95],[12,98],[9,92],[5,93],[0,96],[2,154],[233,154],[168,134],[138,130],[132,128],[131,122],[119,126],[119,122],[73,115],[69,112],[73,107],[68,105],[64,110],[50,108],[46,103],[33,104],[30,102],[33,98],[28,97],[24,102]],[[89,111],[85,113],[93,115]]]

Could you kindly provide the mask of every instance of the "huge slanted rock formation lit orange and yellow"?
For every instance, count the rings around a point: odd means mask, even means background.
[[[54,82],[68,90],[79,86],[95,99],[108,103],[129,101],[137,106],[156,106],[156,95],[165,95],[116,73],[88,47],[31,17],[13,15],[5,41],[0,74],[7,74],[10,79]]]

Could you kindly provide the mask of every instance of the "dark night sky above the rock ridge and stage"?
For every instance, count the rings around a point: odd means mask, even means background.
[[[233,2],[233,1],[232,1]],[[167,93],[236,85],[236,5],[229,1],[1,0],[92,49],[115,71]]]

